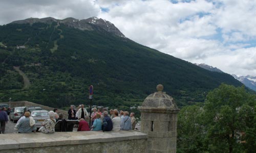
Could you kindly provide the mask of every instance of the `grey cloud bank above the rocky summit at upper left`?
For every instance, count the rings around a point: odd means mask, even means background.
[[[93,0],[88,1],[32,1],[14,0],[0,2],[0,24],[7,24],[14,20],[29,17],[43,18],[54,17],[64,19],[74,17],[79,19],[98,16],[100,7]]]

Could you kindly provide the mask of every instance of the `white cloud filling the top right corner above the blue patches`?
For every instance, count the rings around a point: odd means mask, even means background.
[[[242,32],[249,36],[256,35],[256,1],[220,0],[219,9],[212,11],[214,20],[224,33]]]

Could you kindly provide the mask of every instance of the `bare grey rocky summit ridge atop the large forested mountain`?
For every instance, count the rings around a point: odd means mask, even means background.
[[[52,22],[58,22],[58,23],[63,23],[68,25],[69,27],[77,28],[80,30],[104,30],[106,32],[112,33],[116,36],[119,37],[124,37],[125,36],[115,27],[115,25],[109,21],[106,21],[101,18],[97,17],[90,17],[88,19],[76,19],[73,17],[68,17],[65,19],[55,19],[53,17],[46,17],[46,18],[27,18],[24,20],[17,20],[11,22],[11,24],[33,24],[36,22],[42,22],[42,23],[47,23],[51,24]]]

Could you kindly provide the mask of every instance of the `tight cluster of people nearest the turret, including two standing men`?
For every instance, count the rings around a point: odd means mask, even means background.
[[[69,119],[78,119],[78,129],[77,131],[119,131],[119,130],[134,130],[136,125],[135,113],[131,113],[129,116],[129,112],[118,110],[110,110],[110,114],[106,109],[103,109],[103,113],[101,113],[100,109],[93,108],[93,112],[91,114],[91,123],[92,126],[89,126],[89,123],[86,119],[89,119],[89,114],[87,110],[81,105],[81,108],[77,110],[77,112],[71,108],[68,111]],[[75,115],[76,114],[76,115]]]

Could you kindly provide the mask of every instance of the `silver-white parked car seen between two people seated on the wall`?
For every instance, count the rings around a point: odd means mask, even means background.
[[[37,129],[39,129],[42,126],[42,122],[45,119],[50,118],[49,117],[49,112],[46,111],[46,110],[32,110],[30,112],[30,114],[31,114],[31,117],[33,117],[34,120],[35,120],[35,126],[36,126]]]

